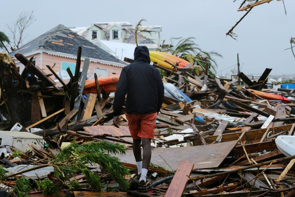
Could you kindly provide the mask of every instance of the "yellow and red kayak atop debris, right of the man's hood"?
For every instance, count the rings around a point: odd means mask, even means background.
[[[190,62],[188,62],[187,60],[160,51],[150,51],[150,58],[152,62],[157,62],[159,66],[163,66],[164,68],[168,68],[170,70],[172,70],[174,67],[165,62],[165,60],[174,65],[176,64],[176,62],[179,62],[178,67],[180,68],[183,68],[190,64]]]

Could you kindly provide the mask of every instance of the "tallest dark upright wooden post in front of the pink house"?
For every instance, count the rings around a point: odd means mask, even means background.
[[[76,62],[76,68],[75,68],[75,75],[73,77],[72,81],[72,94],[71,94],[71,109],[74,108],[75,99],[78,92],[78,82],[79,82],[79,73],[80,73],[80,66],[81,66],[81,52],[82,48],[81,46],[78,47],[78,54],[77,54],[77,62]]]

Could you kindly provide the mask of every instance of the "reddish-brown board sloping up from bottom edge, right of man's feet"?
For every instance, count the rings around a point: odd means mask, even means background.
[[[191,163],[189,161],[180,162],[176,170],[176,173],[168,187],[165,197],[181,197],[182,196],[193,168],[194,168],[194,163]]]

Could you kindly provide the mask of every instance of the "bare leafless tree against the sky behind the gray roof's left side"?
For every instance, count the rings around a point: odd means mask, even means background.
[[[28,37],[28,34],[24,34],[25,30],[35,21],[36,19],[32,10],[30,12],[22,12],[19,14],[17,20],[14,21],[11,26],[6,24],[13,38],[12,43],[14,44],[14,47],[18,49],[20,45],[22,45],[22,41]]]

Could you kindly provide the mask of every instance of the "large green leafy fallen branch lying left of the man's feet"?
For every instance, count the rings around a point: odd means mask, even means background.
[[[127,190],[129,184],[124,179],[124,175],[129,173],[128,169],[118,158],[109,155],[125,154],[125,152],[125,147],[118,143],[103,141],[79,145],[73,142],[53,158],[53,166],[59,163],[58,167],[55,167],[54,175],[62,181],[69,181],[70,175],[82,172],[92,189],[100,190],[103,187],[100,177],[86,167],[86,164],[98,164],[103,173],[110,173],[122,190]]]

